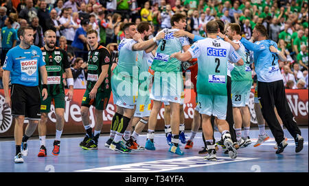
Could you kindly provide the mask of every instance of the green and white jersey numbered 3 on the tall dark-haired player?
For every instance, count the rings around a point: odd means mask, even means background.
[[[190,44],[189,39],[187,37],[175,38],[174,32],[179,29],[163,29],[161,31],[165,33],[165,38],[159,41],[151,68],[155,72],[180,72],[181,62],[176,58],[170,58],[170,55],[182,51],[183,46]]]

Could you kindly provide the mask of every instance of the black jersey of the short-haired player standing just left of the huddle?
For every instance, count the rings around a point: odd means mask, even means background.
[[[102,72],[102,66],[108,65],[108,72],[98,88],[98,92],[111,91],[111,55],[109,51],[99,45],[97,49],[88,52],[87,89],[92,90]]]

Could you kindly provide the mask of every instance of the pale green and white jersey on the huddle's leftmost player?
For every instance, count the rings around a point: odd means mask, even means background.
[[[133,39],[124,38],[118,45],[118,63],[113,73],[124,77],[133,78],[133,69],[137,69],[139,51],[133,51],[133,45],[137,43]],[[142,56],[141,56],[142,57]]]

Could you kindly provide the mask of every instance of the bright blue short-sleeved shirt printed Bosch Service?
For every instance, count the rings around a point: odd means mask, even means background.
[[[45,66],[40,48],[31,45],[29,49],[16,46],[8,51],[3,70],[9,70],[12,84],[38,85],[38,68]]]

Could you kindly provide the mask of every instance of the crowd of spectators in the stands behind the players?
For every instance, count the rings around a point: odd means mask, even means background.
[[[286,88],[308,88],[306,0],[2,0],[1,66],[8,50],[19,44],[19,27],[34,28],[34,44],[38,47],[44,46],[44,32],[53,29],[56,44],[69,55],[76,79],[87,73],[87,65],[81,62],[87,62],[88,29],[97,30],[100,44],[117,56],[117,43],[124,38],[124,23],[148,21],[155,35],[160,29],[171,27],[170,17],[175,13],[185,14],[186,30],[200,36],[205,36],[208,21],[220,19],[240,24],[242,36],[251,40],[255,25],[262,23],[269,39],[277,42],[288,59],[279,62]]]

